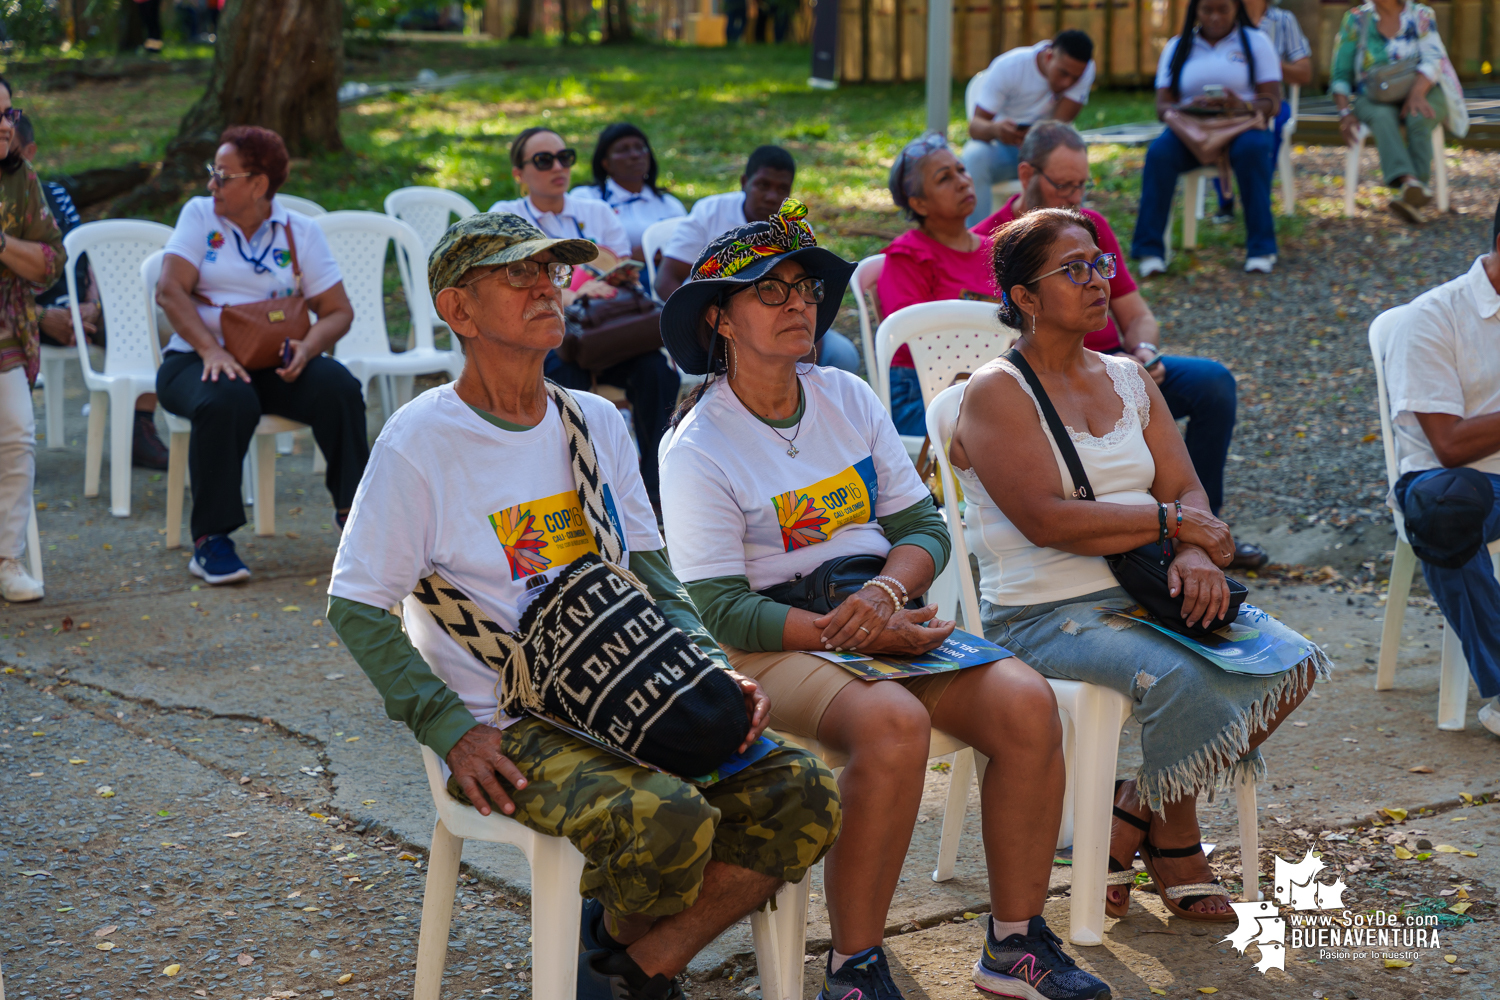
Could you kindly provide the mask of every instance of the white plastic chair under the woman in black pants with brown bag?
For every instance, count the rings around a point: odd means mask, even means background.
[[[162,316],[152,298],[156,294],[156,283],[162,277],[164,250],[152,253],[141,261],[141,288],[147,295],[147,325],[150,330],[152,357],[156,367],[162,366],[160,327]],[[166,418],[166,541],[165,547],[180,549],[183,544],[183,490],[188,487],[188,445],[192,439],[192,420],[178,417],[162,408]],[[244,457],[243,492],[254,496],[255,504],[255,534],[276,534],[276,453],[278,438],[290,441],[292,432],[306,430],[308,424],[296,420],[266,414],[255,424],[255,439],[249,454]],[[321,472],[322,453],[316,442],[312,445],[312,471]]]

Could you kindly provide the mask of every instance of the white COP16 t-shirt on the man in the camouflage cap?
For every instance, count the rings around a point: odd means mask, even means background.
[[[615,405],[573,393],[598,456],[604,495],[627,549],[662,547],[640,481],[636,447]],[[598,552],[568,465],[555,403],[530,430],[502,430],[458,397],[429,390],[386,421],[360,480],[339,552],[332,597],[374,607],[405,601],[406,634],[480,723],[495,718],[496,675],[408,600],[442,574],[495,622],[520,624],[531,598],[573,559]]]

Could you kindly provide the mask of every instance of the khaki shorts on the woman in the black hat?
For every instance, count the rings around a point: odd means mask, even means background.
[[[818,739],[818,724],[834,697],[848,684],[900,684],[916,696],[930,717],[944,691],[958,676],[957,670],[926,678],[861,681],[837,663],[810,652],[746,652],[726,648],[729,666],[754,678],[771,699],[771,729],[788,736]]]

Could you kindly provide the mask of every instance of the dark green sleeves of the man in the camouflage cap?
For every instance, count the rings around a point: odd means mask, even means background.
[[[672,574],[662,549],[632,552],[630,571],[646,585],[663,618],[690,642],[728,669],[723,651],[710,637],[682,585]],[[382,607],[342,597],[328,598],[328,624],[350,649],[386,702],[386,715],[405,723],[417,741],[447,757],[453,744],[478,723],[453,688],[442,684],[402,630],[400,619]]]

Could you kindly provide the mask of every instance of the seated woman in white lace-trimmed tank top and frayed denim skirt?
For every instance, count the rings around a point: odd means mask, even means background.
[[[1140,850],[1176,916],[1234,921],[1198,844],[1196,799],[1236,774],[1264,771],[1256,748],[1329,663],[1314,651],[1280,676],[1227,673],[1154,628],[1098,610],[1106,601],[1134,603],[1102,556],[1158,541],[1162,517],[1178,540],[1168,573],[1174,594],[1185,595],[1188,624],[1226,613],[1220,567],[1234,550],[1161,390],[1142,378],[1134,358],[1083,348],[1108,315],[1113,267],[1094,223],[1072,210],[1032,211],[996,234],[1000,319],[1022,330],[1017,349],[1056,406],[1100,502],[1074,493],[1041,405],[1006,358],[969,381],[950,454],[980,559],[986,637],[1042,675],[1134,700],[1143,763],[1116,784],[1108,912],[1128,910],[1131,859]]]

